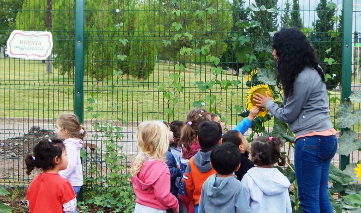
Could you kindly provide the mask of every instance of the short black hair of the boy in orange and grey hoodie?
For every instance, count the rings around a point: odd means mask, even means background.
[[[198,127],[198,141],[201,148],[210,151],[222,138],[222,127],[216,121],[203,121]]]

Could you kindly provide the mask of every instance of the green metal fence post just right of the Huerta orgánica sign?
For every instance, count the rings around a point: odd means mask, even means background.
[[[74,74],[74,113],[83,123],[84,108],[84,0],[75,0],[75,74]],[[77,195],[77,201],[83,201],[83,187]]]

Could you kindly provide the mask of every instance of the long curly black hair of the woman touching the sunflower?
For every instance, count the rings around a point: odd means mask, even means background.
[[[293,93],[293,83],[305,67],[318,72],[325,83],[325,74],[318,66],[316,53],[306,35],[295,27],[282,28],[273,36],[273,48],[276,50],[277,86],[286,96]],[[282,85],[282,87],[280,86]]]

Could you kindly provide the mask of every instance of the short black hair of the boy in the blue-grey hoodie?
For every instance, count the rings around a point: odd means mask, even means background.
[[[213,147],[210,153],[210,163],[218,174],[231,174],[236,170],[241,159],[241,152],[231,142],[225,142]]]

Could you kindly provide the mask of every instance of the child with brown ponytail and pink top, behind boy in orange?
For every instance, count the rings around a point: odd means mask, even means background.
[[[184,124],[181,132],[181,138],[179,139],[179,146],[182,148],[181,152],[181,166],[182,176],[186,171],[189,164],[189,160],[193,157],[201,147],[198,141],[198,126],[203,121],[210,121],[210,113],[204,108],[191,109],[187,114],[186,124]],[[182,177],[181,176],[181,177]],[[191,200],[188,198],[185,188],[182,183],[179,184],[179,196],[186,206],[189,213],[194,213],[194,207]]]

